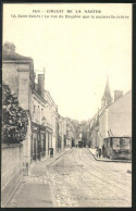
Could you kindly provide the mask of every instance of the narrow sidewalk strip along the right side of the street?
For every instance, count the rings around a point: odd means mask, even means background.
[[[102,161],[102,162],[120,162],[120,163],[132,163],[132,160],[111,160],[109,158],[98,158],[96,153],[96,149],[88,148],[92,157],[95,158],[96,161]]]

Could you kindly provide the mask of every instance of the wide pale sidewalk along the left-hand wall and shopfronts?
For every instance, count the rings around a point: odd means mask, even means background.
[[[24,181],[8,203],[7,208],[53,208],[57,206],[52,198],[50,178],[47,166],[61,156],[66,153],[71,148],[55,152],[53,158],[47,158],[30,166],[29,176],[24,176]]]

